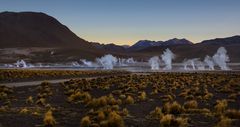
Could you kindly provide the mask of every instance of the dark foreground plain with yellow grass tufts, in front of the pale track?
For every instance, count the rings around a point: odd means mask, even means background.
[[[34,82],[26,86],[24,82],[14,87],[1,85],[0,125],[237,127],[240,124],[238,72],[111,73],[35,82],[39,85]]]

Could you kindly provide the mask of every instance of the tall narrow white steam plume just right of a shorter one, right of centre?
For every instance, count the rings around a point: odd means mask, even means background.
[[[163,68],[163,70],[171,70],[172,69],[172,60],[175,58],[175,55],[172,53],[172,51],[167,48],[163,52],[161,57],[165,64],[165,67]]]

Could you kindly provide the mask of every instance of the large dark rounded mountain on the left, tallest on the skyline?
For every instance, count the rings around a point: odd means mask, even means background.
[[[89,47],[55,18],[41,12],[0,13],[0,47]]]

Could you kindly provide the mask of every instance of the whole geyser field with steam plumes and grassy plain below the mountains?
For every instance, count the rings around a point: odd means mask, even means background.
[[[238,127],[240,64],[224,47],[176,57],[1,64],[0,126]]]

